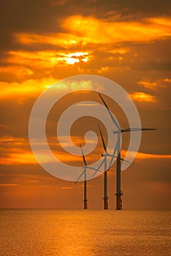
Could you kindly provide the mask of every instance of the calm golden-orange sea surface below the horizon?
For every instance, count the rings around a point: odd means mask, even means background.
[[[0,255],[171,255],[170,216],[171,211],[0,210]]]

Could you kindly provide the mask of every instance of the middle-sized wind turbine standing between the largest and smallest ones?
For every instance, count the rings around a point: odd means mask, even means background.
[[[99,127],[99,125],[98,125],[98,127]],[[113,157],[113,158],[117,158],[117,157],[115,157],[115,155],[107,153],[107,147],[105,145],[104,137],[102,135],[102,130],[100,129],[100,127],[99,127],[99,132],[100,132],[100,136],[101,136],[101,139],[102,139],[102,145],[103,145],[105,153],[102,154],[102,157],[104,157],[104,159],[102,160],[99,167],[96,169],[94,175],[96,174],[97,171],[99,171],[99,168],[104,164],[104,197],[103,197],[103,199],[104,199],[104,209],[108,209],[108,198],[109,197],[107,196],[107,171],[109,170],[109,168],[107,169],[107,157]],[[123,159],[121,158],[121,160],[123,160]],[[126,162],[128,162],[128,161],[126,161]]]

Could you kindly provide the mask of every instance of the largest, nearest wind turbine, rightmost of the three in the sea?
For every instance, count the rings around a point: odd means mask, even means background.
[[[98,93],[99,94],[99,93]],[[116,210],[122,210],[122,199],[121,196],[123,195],[123,192],[121,191],[121,133],[122,132],[140,132],[140,131],[148,131],[148,130],[156,130],[153,128],[128,128],[128,129],[121,129],[118,125],[118,122],[116,121],[115,117],[113,116],[112,112],[110,111],[110,108],[108,108],[106,102],[104,102],[104,99],[101,94],[99,94],[99,97],[102,99],[102,102],[104,103],[104,106],[107,108],[107,111],[110,115],[110,118],[113,121],[113,124],[117,127],[117,131],[114,131],[113,134],[117,134],[117,142],[115,145],[115,149],[113,152],[113,157],[110,161],[110,166],[112,165],[115,153],[117,152],[117,164],[116,164]]]

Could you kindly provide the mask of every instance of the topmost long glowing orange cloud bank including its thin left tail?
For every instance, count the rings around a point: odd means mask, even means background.
[[[126,41],[148,41],[170,36],[171,19],[147,18],[137,22],[98,20],[93,17],[74,15],[66,18],[62,27],[64,33],[39,35],[15,34],[21,44],[49,44],[68,47],[87,43],[111,43]]]

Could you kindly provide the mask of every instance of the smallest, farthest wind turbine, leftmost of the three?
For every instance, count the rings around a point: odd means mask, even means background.
[[[79,181],[79,179],[81,178],[81,176],[83,176],[84,174],[84,209],[87,209],[88,208],[88,200],[87,200],[87,169],[90,169],[90,170],[96,170],[95,168],[93,167],[89,167],[86,163],[86,158],[83,154],[83,148],[80,144],[80,148],[81,148],[81,152],[82,152],[82,156],[83,156],[83,162],[84,162],[84,166],[83,166],[83,172],[80,174],[80,176],[77,178],[77,181]],[[101,170],[99,170],[100,172],[102,172]],[[75,184],[77,183],[77,181],[75,181]]]

